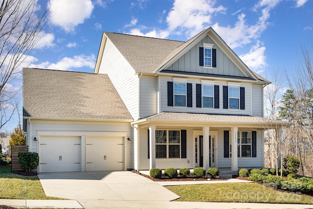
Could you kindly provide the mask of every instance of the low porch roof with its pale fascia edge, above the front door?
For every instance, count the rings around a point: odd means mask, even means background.
[[[186,126],[211,126],[211,127],[251,127],[260,129],[280,128],[284,121],[273,120],[264,117],[243,115],[216,115],[199,113],[173,113],[162,112],[153,116],[145,117],[132,122],[133,125],[158,123],[172,123]]]

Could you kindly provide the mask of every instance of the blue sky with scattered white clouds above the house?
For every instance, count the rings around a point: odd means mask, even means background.
[[[313,49],[313,0],[38,0],[51,19],[22,67],[93,72],[102,32],[187,41],[212,26],[270,80]],[[21,80],[13,85],[21,87]],[[22,108],[21,108],[22,109]],[[20,111],[22,113],[22,110]],[[5,128],[18,124],[16,116]]]

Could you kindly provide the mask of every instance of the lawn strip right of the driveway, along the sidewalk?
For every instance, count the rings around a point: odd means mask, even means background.
[[[166,186],[179,195],[176,201],[313,204],[313,197],[281,192],[257,183]]]

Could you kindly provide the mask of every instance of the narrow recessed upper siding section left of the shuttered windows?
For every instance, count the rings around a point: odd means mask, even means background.
[[[157,77],[140,77],[139,117],[152,116],[157,113]]]

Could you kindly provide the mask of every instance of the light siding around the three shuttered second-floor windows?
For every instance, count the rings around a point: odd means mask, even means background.
[[[202,79],[204,80],[204,79]],[[187,83],[192,83],[192,107],[170,107],[167,106],[167,82],[173,81],[172,77],[161,77],[161,112],[184,112],[184,113],[213,113],[232,115],[251,115],[250,84],[241,83],[245,87],[245,110],[223,109],[223,86],[228,86],[226,81],[215,81],[214,85],[219,85],[220,108],[197,108],[196,107],[196,84],[201,84],[201,79],[190,78]],[[213,81],[213,80],[208,80]]]

